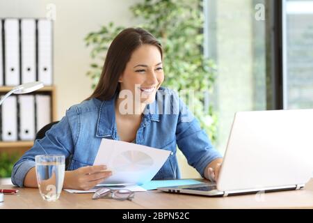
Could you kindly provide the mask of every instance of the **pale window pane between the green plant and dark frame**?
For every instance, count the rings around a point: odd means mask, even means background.
[[[256,18],[265,13],[266,1],[205,0],[204,10],[204,49],[218,69],[211,95],[218,114],[215,145],[223,154],[234,113],[267,108],[266,19]]]

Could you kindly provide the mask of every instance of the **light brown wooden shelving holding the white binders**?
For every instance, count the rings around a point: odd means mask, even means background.
[[[12,90],[11,86],[1,86],[0,94],[6,94],[8,91]],[[45,93],[51,97],[51,119],[56,121],[56,86],[44,86],[32,94]],[[6,152],[19,153],[23,155],[26,151],[33,146],[33,141],[0,141],[0,153]]]

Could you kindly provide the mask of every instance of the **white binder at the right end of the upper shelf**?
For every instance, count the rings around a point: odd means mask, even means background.
[[[38,20],[38,81],[52,85],[51,20]]]

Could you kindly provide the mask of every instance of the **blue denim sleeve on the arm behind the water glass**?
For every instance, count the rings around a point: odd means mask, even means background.
[[[12,170],[11,180],[14,185],[24,187],[26,174],[31,168],[35,167],[35,155],[65,155],[66,158],[73,153],[73,139],[76,138],[79,132],[72,132],[69,121],[71,118],[73,117],[64,116],[60,122],[53,125],[45,133],[45,137],[36,139],[33,147],[19,158]]]

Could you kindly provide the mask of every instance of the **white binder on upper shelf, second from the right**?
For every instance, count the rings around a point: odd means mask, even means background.
[[[22,84],[28,82],[35,82],[36,70],[35,70],[35,30],[34,19],[23,19],[21,21],[21,46],[22,46]]]

